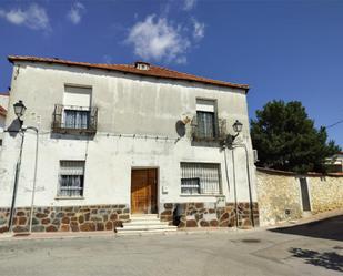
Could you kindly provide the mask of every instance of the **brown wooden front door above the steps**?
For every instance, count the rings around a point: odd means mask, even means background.
[[[158,212],[158,171],[155,168],[131,171],[131,213],[154,214]]]

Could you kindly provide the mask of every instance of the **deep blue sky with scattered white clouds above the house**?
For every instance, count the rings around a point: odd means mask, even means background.
[[[249,111],[299,100],[316,126],[343,120],[343,1],[0,1],[8,54],[97,63],[144,60],[249,83]],[[230,106],[228,106],[230,108]],[[343,123],[327,129],[343,145]]]

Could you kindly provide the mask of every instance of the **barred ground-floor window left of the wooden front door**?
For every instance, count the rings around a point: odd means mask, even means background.
[[[58,196],[83,196],[84,161],[60,161]]]

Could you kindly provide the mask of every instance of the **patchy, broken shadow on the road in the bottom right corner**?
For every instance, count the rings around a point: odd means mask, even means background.
[[[340,249],[336,246],[334,249]],[[335,252],[315,252],[302,248],[291,248],[290,253],[293,254],[293,257],[304,259],[305,264],[321,266],[326,269],[343,272],[343,256],[339,255]]]

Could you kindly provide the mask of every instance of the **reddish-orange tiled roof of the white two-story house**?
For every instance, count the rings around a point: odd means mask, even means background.
[[[94,69],[103,69],[110,71],[117,71],[122,73],[132,73],[138,75],[147,75],[147,76],[155,76],[161,79],[169,79],[169,80],[182,80],[182,81],[194,81],[205,84],[214,84],[226,88],[238,88],[243,89],[248,92],[249,85],[248,84],[238,84],[224,81],[216,81],[211,80],[202,76],[196,76],[193,74],[182,73],[178,71],[173,71],[167,68],[150,65],[149,70],[140,70],[137,69],[133,64],[99,64],[99,63],[88,63],[88,62],[75,62],[69,60],[61,60],[56,58],[37,58],[37,57],[23,57],[23,55],[9,55],[8,57],[10,62],[16,61],[30,61],[30,62],[44,62],[44,63],[54,63],[54,64],[62,64],[62,65],[73,65],[73,67],[84,67],[84,68],[94,68]],[[148,63],[149,64],[149,63]]]

